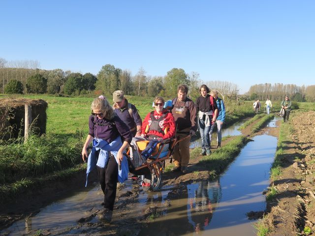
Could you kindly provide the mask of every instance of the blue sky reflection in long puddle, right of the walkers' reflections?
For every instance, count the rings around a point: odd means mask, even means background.
[[[222,198],[215,207],[209,229],[247,225],[247,212],[265,209],[262,191],[269,185],[269,170],[275,156],[277,138],[261,135],[253,140],[254,142],[243,148],[235,162],[220,178]],[[228,235],[223,231],[221,233]],[[235,235],[239,234],[235,232]]]

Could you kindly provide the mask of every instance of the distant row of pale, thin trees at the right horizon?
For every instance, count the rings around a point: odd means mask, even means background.
[[[315,86],[297,86],[294,84],[256,84],[251,86],[248,94],[251,100],[261,99],[266,100],[268,97],[271,100],[282,100],[285,95],[288,95],[291,100],[297,102],[315,101]]]

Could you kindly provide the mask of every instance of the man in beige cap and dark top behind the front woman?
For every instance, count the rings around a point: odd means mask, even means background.
[[[133,137],[141,135],[142,120],[136,107],[128,103],[122,90],[113,92],[113,108],[117,116],[129,127]]]

